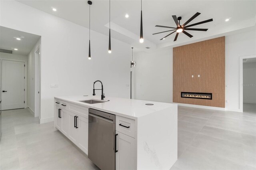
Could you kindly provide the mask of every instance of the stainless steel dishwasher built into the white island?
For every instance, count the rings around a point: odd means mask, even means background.
[[[88,158],[101,170],[116,169],[116,116],[89,109]]]

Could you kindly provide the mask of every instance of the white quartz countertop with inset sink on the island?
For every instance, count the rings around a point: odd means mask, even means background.
[[[80,102],[83,100],[90,100],[90,99],[100,100],[100,96],[98,95],[97,96],[90,96],[90,95],[79,96],[78,95],[78,96],[64,96],[64,97],[54,97],[54,98],[67,101],[70,103],[78,104],[84,107],[104,111],[107,113],[112,113],[114,115],[135,119],[135,120],[138,117],[143,117],[145,115],[149,115],[151,113],[177,105],[173,103],[161,103],[161,102],[155,102],[155,101],[144,101],[144,100],[136,100],[136,99],[117,98],[117,97],[106,97],[104,98],[104,101],[107,101],[107,102],[104,102],[104,103],[88,104],[88,103]],[[154,105],[148,106],[148,105],[145,105],[146,103],[153,103]]]

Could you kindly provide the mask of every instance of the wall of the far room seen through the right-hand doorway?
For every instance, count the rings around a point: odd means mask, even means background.
[[[243,102],[256,104],[256,63],[243,63]]]

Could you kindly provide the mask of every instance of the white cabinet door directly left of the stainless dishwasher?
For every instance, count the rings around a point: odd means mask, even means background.
[[[77,146],[88,154],[88,119],[78,116],[77,118],[78,139]]]

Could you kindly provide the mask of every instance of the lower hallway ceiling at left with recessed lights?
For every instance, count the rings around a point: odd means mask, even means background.
[[[21,40],[17,37],[23,36]],[[28,55],[41,36],[0,26],[0,48],[13,50],[13,54]],[[18,50],[14,50],[17,48]]]

